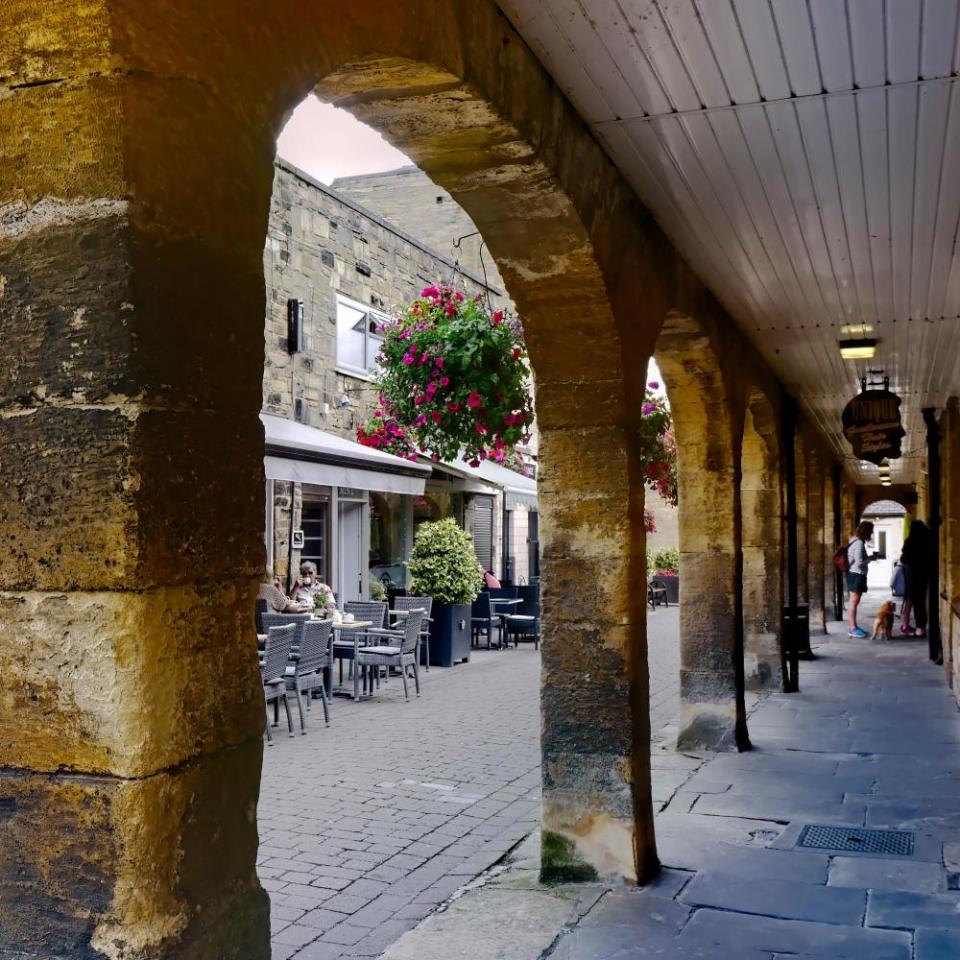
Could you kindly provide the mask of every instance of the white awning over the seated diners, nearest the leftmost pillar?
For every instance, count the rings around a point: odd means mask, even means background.
[[[268,480],[423,494],[430,467],[345,440],[335,434],[261,413]]]

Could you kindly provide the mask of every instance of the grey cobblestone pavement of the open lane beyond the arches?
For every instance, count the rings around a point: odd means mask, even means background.
[[[654,731],[678,700],[676,620],[651,617]],[[475,651],[422,674],[419,700],[394,679],[335,698],[329,728],[315,704],[307,736],[275,731],[258,808],[274,960],[379,956],[537,827],[539,675],[530,646]]]

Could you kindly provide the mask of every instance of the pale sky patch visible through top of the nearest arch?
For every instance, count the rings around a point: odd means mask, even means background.
[[[410,164],[376,130],[312,95],[293,111],[277,138],[277,155],[321,183]]]

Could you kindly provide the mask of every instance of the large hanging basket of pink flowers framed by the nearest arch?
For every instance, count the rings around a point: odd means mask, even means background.
[[[382,333],[380,403],[357,431],[360,443],[478,466],[503,463],[529,439],[533,404],[519,323],[490,313],[480,297],[435,286]]]

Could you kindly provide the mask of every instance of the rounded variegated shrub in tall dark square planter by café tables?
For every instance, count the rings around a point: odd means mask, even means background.
[[[433,598],[430,665],[452,667],[469,660],[470,605],[483,585],[470,535],[449,517],[422,524],[407,568],[410,595]]]

